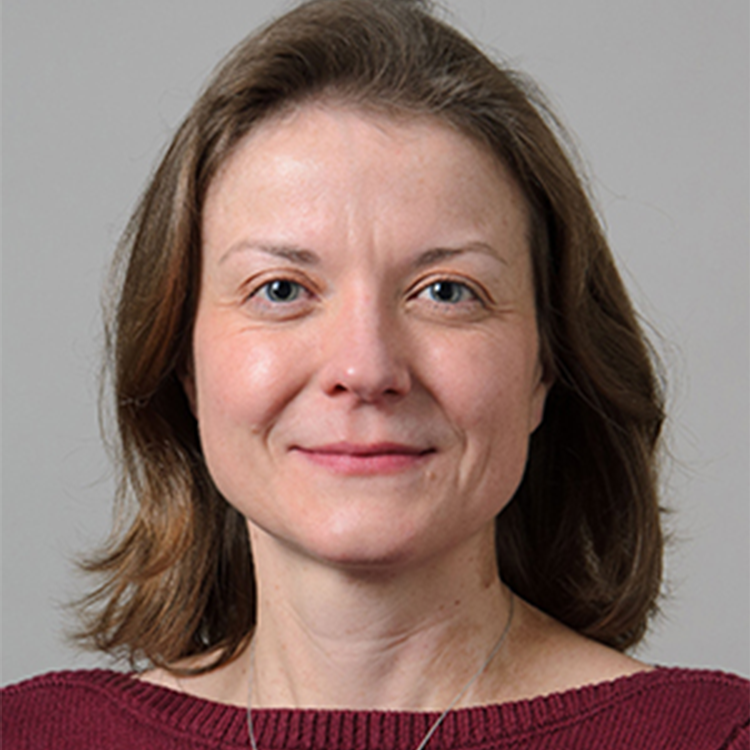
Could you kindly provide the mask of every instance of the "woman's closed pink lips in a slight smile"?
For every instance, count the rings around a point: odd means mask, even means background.
[[[395,474],[415,469],[435,453],[402,443],[329,443],[313,447],[296,446],[294,451],[316,466],[345,476]]]

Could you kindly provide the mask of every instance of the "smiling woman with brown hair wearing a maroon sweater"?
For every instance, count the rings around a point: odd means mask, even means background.
[[[408,0],[228,58],[119,258],[81,638],[142,668],[8,689],[9,747],[748,747],[744,681],[624,653],[660,389],[533,99]]]

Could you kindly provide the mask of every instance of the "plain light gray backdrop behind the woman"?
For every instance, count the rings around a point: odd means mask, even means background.
[[[211,68],[272,0],[3,3],[3,681],[63,645],[71,555],[112,484],[96,417],[99,288]],[[670,380],[669,598],[638,655],[750,674],[748,4],[452,0],[582,144]]]

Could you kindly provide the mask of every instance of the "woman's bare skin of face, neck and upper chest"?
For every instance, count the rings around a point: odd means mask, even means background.
[[[441,709],[497,641],[494,518],[549,385],[528,234],[481,146],[335,102],[261,125],[212,183],[184,386],[248,519],[254,706]],[[248,668],[146,679],[242,705]],[[640,669],[519,601],[462,705]]]

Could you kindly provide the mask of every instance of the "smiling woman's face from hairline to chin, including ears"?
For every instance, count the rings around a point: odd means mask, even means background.
[[[546,385],[528,217],[437,120],[306,105],[209,190],[185,387],[209,470],[272,543],[404,565],[492,527]]]

